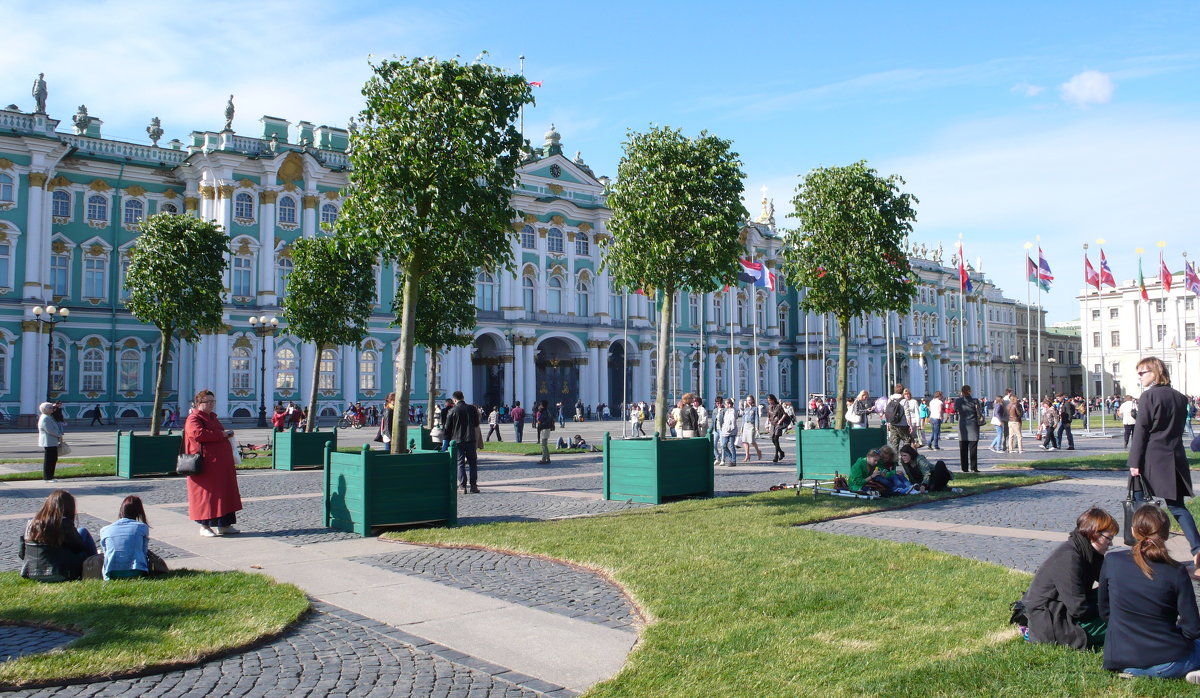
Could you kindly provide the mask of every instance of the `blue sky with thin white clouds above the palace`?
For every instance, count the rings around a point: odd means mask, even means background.
[[[26,2],[10,0],[0,101],[78,104],[104,134],[146,142],[263,114],[344,125],[368,54],[462,55],[542,80],[534,144],[616,174],[626,128],[665,124],[733,140],[748,209],[768,187],[782,219],[798,175],[866,160],[920,199],[913,240],[950,246],[1009,296],[1024,243],[1058,277],[1052,321],[1079,315],[1081,245],[1118,279],[1134,248],[1200,257],[1196,2]],[[787,221],[781,221],[787,224]],[[1189,247],[1190,246],[1190,247]],[[1147,271],[1157,259],[1147,258]]]

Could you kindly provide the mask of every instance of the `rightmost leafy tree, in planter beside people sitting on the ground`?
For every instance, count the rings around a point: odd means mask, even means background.
[[[799,221],[784,245],[787,278],[804,288],[800,308],[838,319],[838,409],[846,419],[850,321],[869,313],[907,312],[917,287],[904,245],[917,219],[917,198],[899,175],[882,177],[865,161],[817,168],[804,176],[792,205]]]

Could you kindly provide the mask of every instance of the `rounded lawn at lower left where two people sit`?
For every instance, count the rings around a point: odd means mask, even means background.
[[[194,664],[277,633],[308,608],[302,591],[262,574],[190,570],[62,584],[4,572],[0,598],[0,621],[85,633],[62,651],[0,663],[0,688]]]

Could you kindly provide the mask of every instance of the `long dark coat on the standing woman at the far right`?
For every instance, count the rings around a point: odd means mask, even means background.
[[[1164,499],[1192,497],[1192,471],[1183,451],[1188,398],[1169,385],[1152,385],[1138,398],[1138,421],[1129,438],[1129,468],[1140,468],[1150,488]]]

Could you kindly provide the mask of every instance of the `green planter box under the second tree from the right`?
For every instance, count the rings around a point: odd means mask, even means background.
[[[713,497],[712,439],[612,439],[605,432],[605,499],[662,504],[679,497]]]

